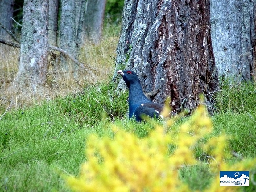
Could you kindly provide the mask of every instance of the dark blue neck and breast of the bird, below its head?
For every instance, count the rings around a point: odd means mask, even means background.
[[[144,95],[140,82],[133,82],[129,85],[129,116],[131,117],[136,108],[142,103],[151,102]]]

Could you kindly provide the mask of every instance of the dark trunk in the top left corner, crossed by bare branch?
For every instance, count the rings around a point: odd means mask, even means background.
[[[14,0],[1,0],[0,1],[0,22],[9,30],[12,30]],[[9,35],[0,28],[1,39],[10,39]]]

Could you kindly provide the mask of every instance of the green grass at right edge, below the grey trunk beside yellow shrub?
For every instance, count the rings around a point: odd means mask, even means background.
[[[230,146],[243,157],[256,156],[256,83],[224,81],[216,94],[215,133],[231,136]]]

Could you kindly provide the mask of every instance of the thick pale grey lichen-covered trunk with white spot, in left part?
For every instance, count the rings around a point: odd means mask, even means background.
[[[48,0],[24,0],[17,82],[33,92],[45,83],[47,75],[48,9]]]

